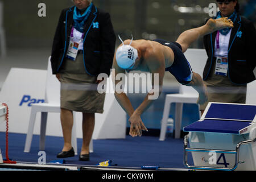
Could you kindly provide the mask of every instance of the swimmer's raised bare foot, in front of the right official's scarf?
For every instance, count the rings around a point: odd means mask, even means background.
[[[207,22],[207,26],[210,28],[210,30],[214,32],[217,30],[221,30],[223,28],[233,28],[234,23],[232,22],[232,20],[228,19],[227,17],[219,18],[219,19],[210,18]]]

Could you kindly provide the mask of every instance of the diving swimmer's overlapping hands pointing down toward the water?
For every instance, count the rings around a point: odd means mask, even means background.
[[[133,115],[131,115],[129,122],[130,122],[129,134],[131,135],[131,137],[137,137],[138,135],[139,135],[139,137],[141,137],[142,130],[148,131],[146,126],[142,122],[141,115],[139,115],[135,112],[133,113]]]

